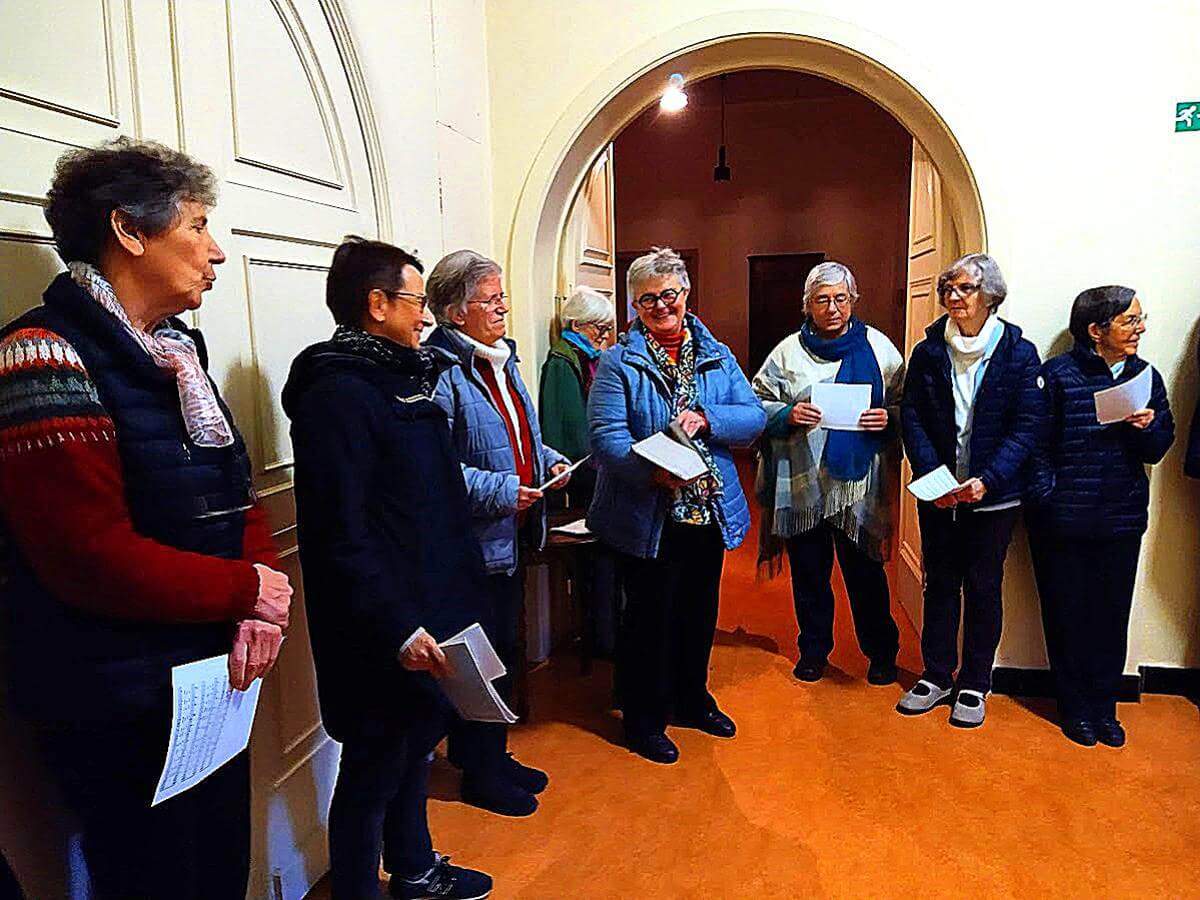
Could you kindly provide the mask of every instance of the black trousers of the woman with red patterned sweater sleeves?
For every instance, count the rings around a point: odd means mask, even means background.
[[[170,713],[43,730],[38,743],[83,829],[95,900],[244,900],[250,877],[250,755],[151,808]]]

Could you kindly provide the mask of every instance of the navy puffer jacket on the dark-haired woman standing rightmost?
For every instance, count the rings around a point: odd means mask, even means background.
[[[1096,421],[1096,391],[1135,378],[1148,364],[1130,356],[1118,378],[1091,348],[1075,346],[1042,367],[1050,406],[1050,427],[1036,454],[1037,480],[1049,496],[1033,509],[1030,523],[1062,538],[1103,539],[1146,530],[1150,479],[1146,466],[1162,460],[1175,440],[1175,420],[1163,378],[1151,373],[1145,430],[1126,422]]]

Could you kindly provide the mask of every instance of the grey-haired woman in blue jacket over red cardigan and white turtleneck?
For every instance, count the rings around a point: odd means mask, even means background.
[[[533,398],[517,370],[516,344],[505,334],[508,298],[500,266],[470,250],[443,258],[425,282],[438,328],[426,341],[455,365],[439,380],[434,400],[450,420],[493,589],[491,622],[482,623],[509,672],[523,665],[517,654],[517,623],[524,602],[524,566],[530,551],[546,542],[546,506],[539,486],[570,464],[542,443]],[[560,490],[569,475],[552,488]],[[511,694],[511,674],[499,680]],[[458,721],[450,728],[449,755],[463,770],[463,800],[508,816],[538,809],[544,772],[522,766],[506,752],[508,728]]]

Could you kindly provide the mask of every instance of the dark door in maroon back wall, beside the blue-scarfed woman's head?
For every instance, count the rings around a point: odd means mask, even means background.
[[[750,359],[754,377],[775,346],[799,330],[804,280],[824,253],[769,253],[748,257],[750,269]]]

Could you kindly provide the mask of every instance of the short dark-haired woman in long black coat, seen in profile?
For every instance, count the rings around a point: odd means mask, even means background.
[[[437,641],[479,619],[484,558],[445,413],[452,360],[420,347],[421,263],[348,239],[329,270],[329,341],[292,364],[296,526],[325,730],[342,742],[329,811],[335,900],[481,898],[492,880],[433,852],[428,755],[451,710]]]

